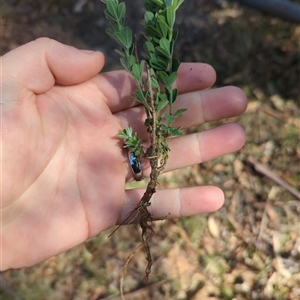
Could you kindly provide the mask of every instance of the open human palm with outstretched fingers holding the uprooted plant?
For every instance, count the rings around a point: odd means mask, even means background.
[[[34,265],[122,223],[143,194],[125,190],[133,177],[116,135],[131,126],[147,142],[144,111],[131,98],[130,76],[98,74],[103,65],[100,52],[45,38],[2,57],[1,270]],[[206,64],[181,65],[175,103],[188,110],[178,125],[245,110],[238,88],[204,91],[214,81]],[[236,151],[244,142],[237,124],[170,140],[165,171]],[[142,164],[149,175],[148,162]],[[158,190],[149,211],[154,218],[190,216],[215,211],[223,201],[213,186]]]

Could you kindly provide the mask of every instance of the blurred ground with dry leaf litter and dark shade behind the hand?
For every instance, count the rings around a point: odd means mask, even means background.
[[[139,37],[143,1],[125,2]],[[101,50],[105,70],[119,68],[98,0],[10,0],[1,10],[1,55],[47,36]],[[239,86],[249,99],[242,116],[193,130],[239,122],[247,143],[161,178],[161,187],[217,185],[225,205],[214,214],[156,222],[150,280],[142,280],[140,251],[125,278],[127,299],[300,299],[300,26],[228,1],[186,0],[177,27],[180,60],[210,63],[215,87]],[[4,272],[0,298],[119,299],[120,272],[140,236],[134,225],[108,235]]]

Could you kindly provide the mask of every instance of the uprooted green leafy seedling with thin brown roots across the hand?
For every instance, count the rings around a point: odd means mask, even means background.
[[[152,258],[149,240],[154,234],[153,218],[148,211],[151,198],[156,192],[158,176],[163,171],[168,160],[170,138],[182,135],[180,127],[174,127],[174,121],[186,109],[174,111],[178,90],[174,83],[178,75],[180,62],[173,57],[178,30],[174,29],[176,11],[184,0],[145,0],[145,14],[142,20],[145,42],[143,52],[139,55],[137,43],[131,29],[125,24],[126,6],[118,0],[102,0],[106,4],[105,16],[109,21],[107,34],[120,46],[116,50],[120,56],[123,68],[128,71],[136,84],[134,98],[145,108],[144,125],[149,133],[150,145],[142,146],[142,140],[133,133],[132,128],[125,128],[118,134],[124,139],[124,148],[129,151],[129,160],[137,172],[141,172],[139,159],[148,159],[151,166],[150,179],[146,191],[132,213],[139,213],[139,225],[142,228],[142,244],[129,256],[126,268],[132,256],[144,247],[148,265],[145,279],[151,272]],[[142,59],[140,59],[140,56]],[[134,169],[133,169],[134,170]],[[135,171],[134,171],[135,172]],[[140,177],[136,177],[140,179]],[[122,290],[122,289],[121,289]]]

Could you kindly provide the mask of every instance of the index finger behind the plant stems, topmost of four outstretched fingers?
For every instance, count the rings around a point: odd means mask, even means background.
[[[203,90],[211,87],[216,80],[215,70],[204,63],[182,63],[178,70],[175,87],[179,94]],[[102,73],[93,78],[93,82],[104,95],[106,104],[113,113],[139,105],[133,94],[136,85],[126,71]]]

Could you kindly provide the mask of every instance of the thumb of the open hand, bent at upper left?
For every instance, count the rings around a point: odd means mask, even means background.
[[[54,84],[82,83],[104,66],[101,52],[79,50],[48,38],[40,38],[18,47],[2,57],[2,87],[8,99],[49,90]],[[24,94],[23,94],[24,95]]]

